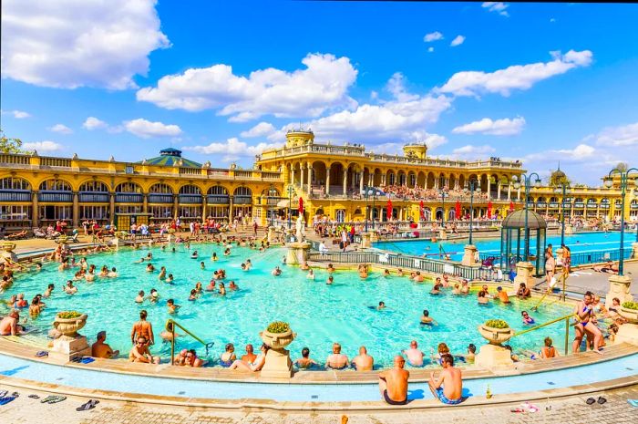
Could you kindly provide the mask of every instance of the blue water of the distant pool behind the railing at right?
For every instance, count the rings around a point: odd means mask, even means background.
[[[500,253],[500,238],[477,238],[473,237],[474,245],[477,246],[479,253]],[[446,253],[451,256],[454,261],[460,261],[463,257],[463,246],[468,243],[466,238],[460,240],[448,240],[432,243],[427,240],[415,240],[409,242],[379,242],[375,243],[375,247],[382,250],[421,255],[427,253],[438,253],[438,245],[442,245]],[[554,252],[561,247],[561,235],[552,235],[547,238],[547,243],[552,244]],[[621,243],[621,234],[612,233],[578,233],[565,236],[565,244],[571,249],[571,253],[579,252],[600,252],[618,249]],[[624,234],[624,247],[631,250],[632,243],[635,243],[635,234]],[[533,251],[535,239],[530,242],[530,249]],[[521,248],[522,249],[522,248]],[[432,255],[433,258],[437,256]]]

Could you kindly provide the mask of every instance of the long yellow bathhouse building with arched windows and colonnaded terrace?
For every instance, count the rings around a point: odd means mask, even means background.
[[[243,216],[264,225],[271,216],[284,218],[289,204],[295,214],[300,197],[306,220],[326,215],[341,222],[386,221],[389,197],[393,219],[449,221],[456,218],[457,202],[468,216],[468,181],[476,182],[475,218],[486,217],[489,209],[502,218],[510,208],[523,207],[524,188],[513,184],[524,172],[520,161],[434,159],[419,143],[405,145],[403,152],[315,143],[311,130],[298,129],[286,134],[283,148],[257,156],[252,170],[213,168],[175,149],[139,162],[0,154],[0,224],[28,228],[63,220],[77,227],[85,219],[106,224],[139,214],[151,223]],[[364,190],[373,187],[383,192]],[[567,216],[613,219],[621,213],[618,183],[611,189],[571,188],[567,197]],[[557,217],[561,194],[533,188],[529,204]],[[632,190],[625,217],[638,220]]]

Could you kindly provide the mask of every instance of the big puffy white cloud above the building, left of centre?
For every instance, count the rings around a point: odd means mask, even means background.
[[[233,122],[263,115],[318,117],[327,109],[356,106],[346,94],[357,75],[348,57],[309,54],[302,63],[305,68],[293,72],[270,67],[248,77],[233,74],[228,65],[190,68],[160,78],[157,88],[140,89],[137,98],[165,109],[219,109]]]

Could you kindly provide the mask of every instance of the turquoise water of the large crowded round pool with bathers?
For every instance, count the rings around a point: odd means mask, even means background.
[[[199,260],[190,259],[190,252],[195,249],[201,253]],[[30,300],[37,293],[43,293],[47,284],[56,284],[52,297],[45,299],[44,312],[31,325],[46,334],[58,311],[79,310],[88,314],[87,326],[81,333],[93,341],[98,331],[107,330],[107,342],[123,354],[129,352],[130,330],[139,319],[139,311],[147,309],[156,336],[156,345],[151,351],[164,358],[168,358],[170,345],[162,343],[160,331],[169,317],[205,341],[214,341],[214,358],[219,357],[227,342],[234,343],[240,354],[246,343],[259,346],[259,332],[271,321],[284,320],[298,335],[289,347],[294,358],[299,357],[302,347],[308,346],[311,357],[324,363],[333,342],[337,341],[344,346],[348,357],[355,356],[359,346],[367,346],[370,355],[376,358],[376,364],[382,366],[389,365],[391,358],[405,349],[412,339],[416,339],[426,352],[436,348],[439,342],[446,342],[453,353],[465,353],[469,343],[477,346],[484,343],[476,329],[478,324],[488,318],[501,318],[513,328],[520,329],[523,327],[521,309],[530,310],[536,304],[533,300],[513,299],[510,305],[479,306],[475,294],[454,296],[448,292],[432,296],[429,295],[430,283],[415,284],[405,277],[384,278],[378,273],[363,281],[354,272],[337,272],[334,284],[326,285],[327,274],[323,270],[316,270],[316,280],[310,281],[305,278],[304,271],[282,265],[283,275],[273,277],[271,271],[276,264],[281,264],[283,249],[273,248],[259,253],[249,248],[234,247],[232,255],[226,257],[222,254],[223,247],[213,244],[193,244],[190,251],[180,245],[176,253],[153,248],[152,263],[155,267],[160,269],[164,265],[176,277],[174,284],[167,284],[159,281],[157,271],[152,274],[145,272],[146,264],[134,264],[148,252],[148,249],[123,249],[118,253],[89,256],[88,263],[96,264],[98,268],[103,264],[116,266],[119,277],[97,278],[93,284],[77,283],[76,295],[66,295],[60,290],[75,270],[58,272],[57,264],[46,264],[38,274],[18,275],[14,286],[0,296],[6,300],[12,294],[25,293]],[[213,252],[220,256],[218,262],[211,262]],[[250,272],[242,272],[240,265],[247,258],[252,260],[254,268]],[[204,270],[201,270],[201,261],[206,266]],[[189,302],[190,289],[197,281],[206,286],[217,268],[226,269],[227,286],[232,279],[240,290],[229,292],[225,297],[204,293],[200,299]],[[160,293],[158,303],[145,301],[139,305],[134,302],[139,290],[149,295],[151,288]],[[174,298],[181,305],[177,315],[168,313],[166,300],[169,298]],[[369,308],[379,301],[386,303],[386,311]],[[0,313],[7,310],[4,302],[0,308]],[[438,326],[419,325],[424,308],[438,321]],[[539,312],[531,315],[542,323],[569,311],[571,307],[554,303],[542,305]],[[560,346],[563,332],[564,326],[558,323],[530,336],[515,337],[511,345],[515,350],[538,351],[542,339],[549,335]],[[203,355],[201,345],[190,337],[178,338],[177,345],[179,348],[198,348]]]

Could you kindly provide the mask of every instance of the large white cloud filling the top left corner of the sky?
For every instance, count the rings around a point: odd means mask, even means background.
[[[156,3],[7,0],[3,78],[55,88],[135,88],[133,77],[149,70],[149,53],[170,45]]]

